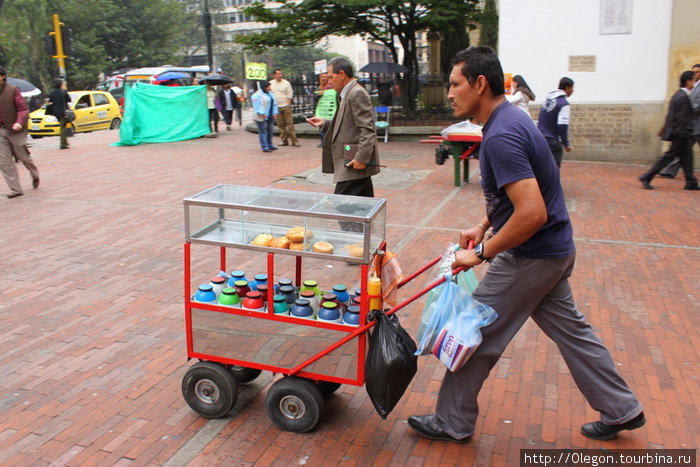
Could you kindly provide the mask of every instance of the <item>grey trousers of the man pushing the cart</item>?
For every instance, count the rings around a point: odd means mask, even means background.
[[[458,439],[474,433],[481,386],[528,317],[557,344],[601,421],[621,424],[642,411],[610,353],[576,309],[568,282],[575,257],[572,253],[564,259],[529,259],[504,252],[493,260],[474,298],[495,309],[498,319],[482,328],[483,342],[467,363],[445,373],[436,407],[445,432]]]

